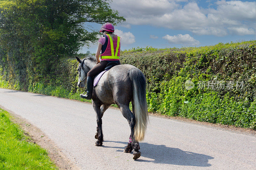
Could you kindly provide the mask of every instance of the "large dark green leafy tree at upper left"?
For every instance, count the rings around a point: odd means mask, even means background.
[[[9,79],[18,75],[19,83],[28,75],[55,76],[60,58],[96,40],[99,32],[86,26],[89,23],[125,20],[110,8],[109,0],[4,0],[0,11],[2,72],[8,70]]]

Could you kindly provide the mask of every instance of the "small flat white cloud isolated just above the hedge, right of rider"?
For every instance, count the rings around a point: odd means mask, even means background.
[[[187,45],[187,46],[194,46],[194,45],[199,45],[200,42],[195,40],[193,37],[191,37],[189,34],[178,34],[174,36],[170,35],[165,35],[163,39],[167,40],[170,44],[182,44],[182,45]]]

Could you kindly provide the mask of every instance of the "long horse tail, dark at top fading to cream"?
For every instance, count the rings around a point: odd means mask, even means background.
[[[144,139],[148,122],[148,105],[146,100],[146,78],[137,69],[130,69],[130,79],[132,80],[133,104],[136,124],[134,127],[134,139],[141,141]]]

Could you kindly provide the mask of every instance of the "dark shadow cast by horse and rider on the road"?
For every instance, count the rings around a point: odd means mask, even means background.
[[[127,144],[127,142],[119,142],[119,141],[105,141],[105,142]],[[117,152],[124,151],[124,148],[122,147],[111,147],[111,146],[103,146],[103,147],[122,149],[122,150],[117,150]],[[136,161],[139,161],[139,162],[153,162],[153,163],[161,163],[161,164],[208,167],[208,166],[211,166],[211,164],[208,163],[208,160],[213,159],[213,157],[208,155],[194,153],[194,152],[186,152],[178,148],[166,147],[165,145],[148,144],[148,143],[142,142],[140,143],[140,148],[143,148],[141,151],[142,157],[146,157],[153,160],[137,159]]]

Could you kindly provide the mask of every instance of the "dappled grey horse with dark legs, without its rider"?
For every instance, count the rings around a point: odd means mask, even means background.
[[[87,73],[96,65],[96,57],[87,55],[79,62],[77,86],[85,87]],[[129,104],[132,102],[132,111]],[[133,159],[140,157],[139,141],[144,139],[148,122],[148,105],[146,100],[146,78],[140,69],[130,65],[121,64],[106,71],[92,91],[92,106],[97,116],[97,139],[95,145],[101,146],[103,142],[102,116],[111,104],[116,104],[123,116],[127,119],[131,135],[124,152],[133,151]]]

